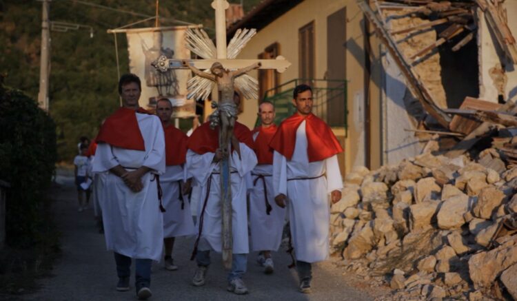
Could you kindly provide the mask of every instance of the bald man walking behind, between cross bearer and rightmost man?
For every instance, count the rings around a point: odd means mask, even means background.
[[[259,251],[257,262],[269,274],[274,271],[271,251],[277,251],[282,241],[285,208],[274,203],[273,149],[271,139],[276,133],[274,105],[264,101],[259,105],[261,125],[253,130],[255,154],[259,162],[252,171],[250,192],[250,230],[252,251]]]

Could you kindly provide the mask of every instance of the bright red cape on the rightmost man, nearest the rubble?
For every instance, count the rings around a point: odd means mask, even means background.
[[[312,113],[307,116],[295,113],[285,119],[278,127],[270,147],[285,156],[287,160],[291,160],[296,143],[296,129],[304,120],[309,162],[325,160],[343,152],[343,147],[341,147],[338,139],[332,133],[332,129]]]

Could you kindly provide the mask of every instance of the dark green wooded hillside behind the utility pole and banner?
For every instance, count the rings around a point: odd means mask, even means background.
[[[88,0],[118,10],[154,15],[156,1]],[[230,2],[239,3],[240,0]],[[245,0],[245,10],[260,0]],[[160,1],[161,25],[176,25],[170,19],[201,23],[214,34],[212,0]],[[69,32],[51,32],[50,116],[57,125],[59,160],[72,160],[80,136],[94,137],[103,118],[119,106],[114,37],[106,30],[134,23],[145,17],[85,6],[73,0],[50,2],[50,20],[88,25]],[[152,27],[154,21],[138,27]],[[128,72],[125,37],[118,37],[121,72]],[[41,45],[41,2],[0,0],[0,73],[6,84],[37,98]]]

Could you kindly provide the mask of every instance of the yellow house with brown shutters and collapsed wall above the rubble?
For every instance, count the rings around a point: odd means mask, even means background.
[[[265,0],[227,34],[256,28],[241,57],[281,55],[292,63],[283,74],[252,74],[261,99],[278,107],[278,121],[292,112],[295,83],[316,87],[316,114],[343,143],[346,174],[424,150],[465,150],[461,141],[479,136],[475,130],[494,121],[494,111],[511,110],[512,12],[517,1]],[[245,102],[239,120],[252,127],[256,107]]]

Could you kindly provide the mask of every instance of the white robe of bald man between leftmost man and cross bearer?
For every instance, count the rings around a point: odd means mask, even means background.
[[[165,167],[165,174],[160,176],[163,207],[165,207],[165,212],[163,212],[164,238],[196,234],[188,196],[183,196],[183,209],[181,209],[179,181],[183,181],[184,178],[181,165]]]

